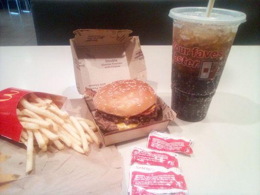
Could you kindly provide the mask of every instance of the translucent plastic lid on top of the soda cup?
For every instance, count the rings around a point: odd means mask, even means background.
[[[210,17],[206,17],[206,10],[206,7],[177,7],[170,10],[169,17],[205,24],[240,24],[246,21],[246,15],[242,12],[213,8]]]

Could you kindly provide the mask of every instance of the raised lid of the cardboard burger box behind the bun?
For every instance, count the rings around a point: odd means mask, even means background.
[[[70,39],[76,85],[79,93],[85,87],[98,90],[122,79],[146,81],[146,67],[138,37],[131,30],[79,29]]]

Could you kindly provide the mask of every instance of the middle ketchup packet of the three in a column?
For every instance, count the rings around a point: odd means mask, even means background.
[[[131,164],[156,165],[165,168],[179,168],[179,155],[161,151],[154,151],[143,147],[133,147]]]

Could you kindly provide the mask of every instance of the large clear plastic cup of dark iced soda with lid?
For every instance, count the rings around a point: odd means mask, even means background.
[[[172,109],[186,121],[206,117],[218,87],[242,12],[206,7],[170,10],[173,19]]]

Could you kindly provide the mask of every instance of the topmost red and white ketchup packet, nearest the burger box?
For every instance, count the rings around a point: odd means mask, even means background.
[[[184,153],[187,155],[193,154],[190,147],[191,139],[182,137],[173,137],[169,134],[162,134],[157,131],[152,131],[149,134],[147,148],[159,150],[163,152]]]

